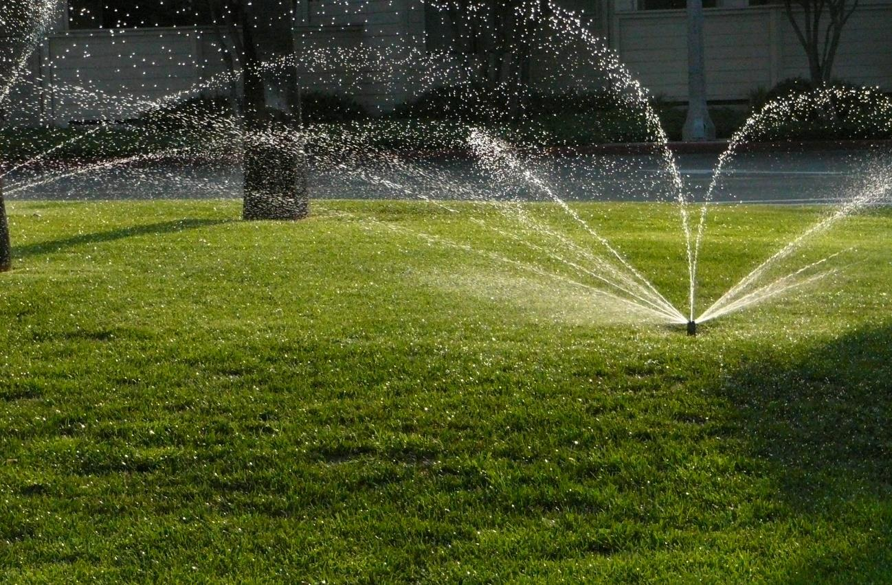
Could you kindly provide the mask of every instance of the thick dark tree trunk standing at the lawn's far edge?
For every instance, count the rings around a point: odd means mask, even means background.
[[[300,121],[294,111],[293,24],[293,6],[279,0],[253,0],[245,6],[245,219],[300,219],[310,212],[301,177]]]

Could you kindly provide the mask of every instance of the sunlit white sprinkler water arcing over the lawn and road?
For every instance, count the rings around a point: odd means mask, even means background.
[[[337,17],[361,10],[360,4],[344,2]],[[428,4],[442,10],[450,8],[449,2],[430,0]],[[682,177],[647,91],[615,53],[591,34],[578,15],[557,6],[549,6],[545,13],[537,12],[538,8],[518,8],[516,26],[524,30],[535,27],[538,32],[519,35],[515,45],[500,49],[505,55],[537,54],[541,62],[547,63],[537,72],[534,91],[515,80],[480,83],[482,63],[474,55],[429,52],[409,43],[359,49],[317,46],[284,55],[266,63],[266,67],[274,73],[298,68],[308,78],[330,78],[342,95],[360,95],[370,84],[401,84],[409,89],[398,114],[250,133],[244,129],[238,111],[219,107],[219,100],[210,100],[210,96],[227,95],[228,88],[237,84],[237,69],[223,70],[193,87],[171,91],[160,98],[114,95],[90,87],[89,78],[82,85],[72,85],[23,76],[30,50],[41,42],[47,23],[53,20],[54,5],[53,0],[22,1],[0,8],[0,22],[18,37],[20,47],[18,53],[9,57],[6,69],[10,73],[0,86],[0,103],[16,84],[30,86],[34,91],[48,88],[54,99],[77,104],[69,108],[70,120],[91,125],[69,130],[68,134],[57,133],[62,139],[47,140],[44,134],[29,138],[27,131],[20,132],[18,136],[24,137],[25,142],[20,143],[22,152],[9,152],[17,160],[0,173],[0,178],[7,182],[6,195],[11,198],[27,195],[43,185],[82,181],[81,188],[90,189],[120,177],[143,185],[150,194],[154,185],[158,196],[163,195],[159,186],[162,178],[168,184],[188,182],[194,189],[209,194],[237,192],[238,177],[229,175],[208,181],[195,169],[214,165],[229,168],[239,163],[244,149],[257,144],[274,145],[295,156],[308,157],[315,177],[326,177],[353,192],[384,190],[454,213],[461,210],[450,204],[453,200],[471,202],[480,210],[495,210],[500,218],[510,222],[510,227],[504,221],[475,218],[475,222],[494,235],[539,254],[542,262],[518,263],[507,257],[503,260],[621,300],[637,314],[672,324],[693,325],[768,301],[833,274],[839,269],[840,251],[781,270],[780,275],[775,268],[785,267],[781,266],[783,260],[790,260],[830,227],[869,206],[889,202],[892,196],[892,165],[888,158],[877,158],[858,170],[859,180],[838,193],[838,202],[828,206],[824,218],[769,255],[697,317],[698,260],[708,210],[739,152],[764,136],[776,137],[772,133],[783,128],[789,119],[836,115],[833,108],[837,103],[855,103],[855,111],[863,115],[865,131],[867,125],[885,124],[880,131],[892,132],[892,103],[887,97],[869,89],[825,88],[767,104],[731,138],[698,201]],[[127,30],[117,34],[126,39]],[[185,30],[182,34],[199,33]],[[88,39],[79,47],[83,54],[77,57],[88,62],[91,44],[100,42],[98,36]],[[220,53],[227,50],[219,45]],[[145,61],[145,56],[136,52],[125,56],[134,62]],[[220,55],[212,58],[219,60]],[[196,67],[207,64],[195,63]],[[200,104],[202,100],[217,105],[182,107],[184,103]],[[449,115],[432,115],[444,111]],[[643,157],[651,161],[648,172],[643,172],[641,158],[631,157],[600,160],[589,167],[547,157],[549,164],[561,172],[542,169],[543,144],[562,144],[556,124],[558,129],[567,125],[600,128],[602,119],[616,117],[632,120],[631,135],[648,144],[647,156]],[[120,148],[122,140],[128,142],[127,148]],[[564,144],[573,146],[573,139],[566,139]],[[476,161],[471,168],[460,162],[467,157]],[[602,183],[594,176],[611,172],[637,177],[640,189],[650,194],[650,201],[673,202],[676,206],[689,282],[683,310],[660,293],[599,227],[591,225],[573,204],[566,202],[560,177],[572,177],[576,185],[582,185],[580,198],[599,199]],[[553,204],[571,223],[582,228],[581,235],[537,217],[530,208],[533,201]],[[691,210],[697,208],[698,212],[692,214]],[[446,243],[442,237],[422,236],[429,242]],[[449,245],[474,250],[469,244]],[[550,268],[545,260],[556,262],[563,271]]]

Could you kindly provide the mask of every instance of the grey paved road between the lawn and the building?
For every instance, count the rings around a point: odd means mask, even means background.
[[[701,200],[717,156],[682,154],[685,188]],[[832,202],[869,180],[871,161],[892,163],[892,152],[757,152],[734,159],[714,191],[717,202]],[[673,197],[671,179],[655,157],[585,155],[543,157],[517,169],[492,171],[467,159],[378,162],[361,169],[314,169],[311,194],[319,199],[545,199],[542,185],[571,201],[659,201]],[[535,178],[541,183],[534,184]],[[241,196],[237,167],[154,166],[87,168],[67,176],[23,171],[5,177],[11,200],[210,199]]]

